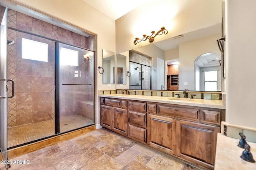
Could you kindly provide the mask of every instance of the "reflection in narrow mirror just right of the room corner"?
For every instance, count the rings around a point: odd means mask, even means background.
[[[117,84],[126,84],[126,56],[117,54],[116,55],[116,67],[117,67],[117,72],[116,72],[116,79],[117,79]]]

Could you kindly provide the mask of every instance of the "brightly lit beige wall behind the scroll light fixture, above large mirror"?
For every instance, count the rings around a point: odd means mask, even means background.
[[[168,34],[156,36],[154,42],[216,25],[221,18],[222,0],[154,0],[116,20],[116,53],[150,44],[133,41],[163,26]]]

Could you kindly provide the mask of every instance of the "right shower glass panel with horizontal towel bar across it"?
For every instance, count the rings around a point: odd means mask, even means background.
[[[94,53],[59,44],[60,133],[94,124]]]

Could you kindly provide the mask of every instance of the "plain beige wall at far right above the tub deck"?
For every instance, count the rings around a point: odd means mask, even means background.
[[[256,127],[256,0],[225,2],[226,121]]]

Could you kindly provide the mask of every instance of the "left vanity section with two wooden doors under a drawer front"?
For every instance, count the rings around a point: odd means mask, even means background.
[[[122,107],[125,101],[127,102],[127,100],[100,98],[100,125],[102,127],[128,135],[128,111],[123,109],[125,106]]]

